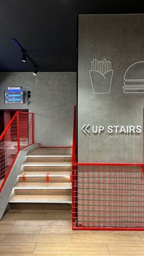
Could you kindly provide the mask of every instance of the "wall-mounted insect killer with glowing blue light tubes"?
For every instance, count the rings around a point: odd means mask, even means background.
[[[8,87],[4,93],[5,104],[23,104],[24,91],[21,87]]]

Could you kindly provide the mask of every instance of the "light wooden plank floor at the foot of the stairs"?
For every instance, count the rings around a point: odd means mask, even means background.
[[[10,210],[0,222],[0,256],[144,255],[144,232],[73,231],[70,210]]]

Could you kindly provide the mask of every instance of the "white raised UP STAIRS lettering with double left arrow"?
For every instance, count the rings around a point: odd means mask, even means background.
[[[107,134],[140,134],[142,133],[142,126],[137,125],[109,125],[107,128],[104,126],[98,126],[98,125],[84,125],[81,128],[82,133],[85,135],[90,135],[90,134],[95,134],[95,135],[101,135],[102,133],[107,133]]]

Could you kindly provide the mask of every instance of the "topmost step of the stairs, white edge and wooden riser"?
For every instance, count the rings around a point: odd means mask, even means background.
[[[27,155],[26,162],[70,162],[71,155]]]

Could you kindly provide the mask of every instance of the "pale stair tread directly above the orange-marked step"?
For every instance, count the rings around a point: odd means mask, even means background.
[[[72,166],[69,162],[26,162],[23,166]]]

